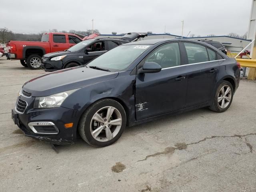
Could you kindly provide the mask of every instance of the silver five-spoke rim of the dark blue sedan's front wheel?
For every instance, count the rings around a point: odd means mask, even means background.
[[[121,126],[120,112],[112,106],[106,106],[93,115],[90,132],[97,141],[106,142],[112,140],[119,133]]]

